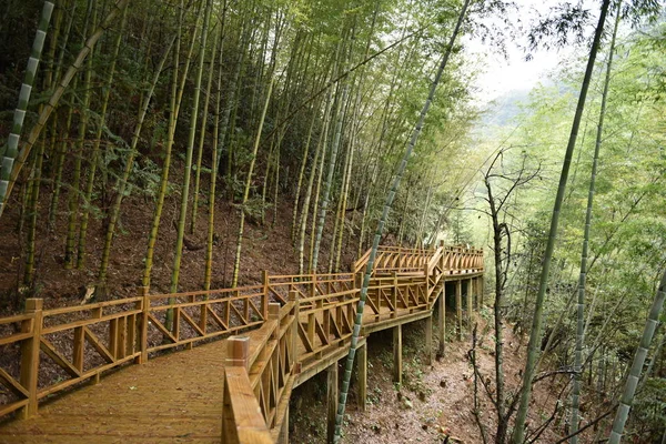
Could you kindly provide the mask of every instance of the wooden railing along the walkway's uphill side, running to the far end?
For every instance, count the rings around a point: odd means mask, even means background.
[[[384,262],[386,266],[380,268],[380,271],[393,271],[393,276],[373,278],[370,291],[377,293],[375,304],[380,305],[382,297],[386,297],[382,295],[382,292],[387,289],[394,287],[396,291],[403,292],[403,296],[407,300],[410,297],[418,299],[420,295],[410,296],[407,290],[413,287],[421,292],[425,284],[427,299],[443,275],[483,271],[483,250],[480,249],[443,245],[436,250],[382,246],[380,252],[392,255],[389,258],[391,263]],[[396,253],[400,256],[395,256]],[[448,268],[443,261],[445,254],[457,258],[450,263]],[[369,256],[370,251],[356,261],[356,265],[360,261],[367,261]],[[464,263],[467,266],[463,265],[461,258],[465,259]],[[426,278],[433,273],[438,261],[443,261],[444,265],[438,272],[437,279],[432,282],[427,279],[421,281],[424,273]],[[0,416],[19,408],[22,408],[22,416],[31,416],[37,413],[38,400],[87,379],[99,377],[102,372],[131,361],[144,363],[149,353],[174,346],[192,346],[195,342],[232,334],[241,330],[264,325],[268,327],[271,299],[281,301],[283,309],[291,310],[294,306],[294,302],[287,301],[286,294],[283,292],[289,292],[290,296],[301,295],[300,303],[303,304],[303,311],[307,310],[309,315],[320,315],[317,313],[322,310],[344,309],[345,316],[347,316],[345,319],[351,320],[347,322],[353,322],[349,314],[354,312],[355,301],[359,297],[361,282],[359,276],[359,272],[302,275],[269,275],[268,272],[264,272],[262,283],[255,285],[153,295],[148,294],[148,287],[139,287],[138,295],[133,297],[50,310],[42,310],[41,300],[28,300],[23,314],[0,317],[0,325],[20,324],[20,331],[0,336],[0,345],[21,344],[22,362],[19,379],[14,380],[11,376],[0,379],[0,384],[19,397],[16,402],[0,405]],[[369,297],[371,309],[372,303]],[[407,303],[413,302],[407,301]],[[402,306],[405,306],[405,302]],[[394,310],[396,309],[397,305],[394,306]],[[175,323],[175,332],[170,332],[167,321],[162,321],[160,317],[168,310],[174,312],[175,320],[172,322]],[[193,313],[196,313],[199,317],[195,317]],[[179,322],[185,326],[190,336],[179,335]],[[232,322],[234,322],[233,325]],[[213,326],[209,326],[209,324]],[[150,330],[157,330],[158,335],[162,334],[167,341],[155,344],[154,339],[150,339],[154,335],[149,337]],[[70,354],[60,352],[53,345],[57,343],[51,343],[44,336],[61,334],[65,331],[68,331],[68,341],[72,341],[69,337],[73,337],[74,353],[71,357]],[[109,345],[99,340],[98,336],[102,334],[101,332],[109,334]],[[339,332],[337,334],[341,335],[340,337],[346,337],[347,333]],[[101,364],[95,364],[92,369],[83,363],[83,350],[87,343],[88,346],[93,346],[103,359]],[[40,350],[69,373],[71,379],[38,387]]]

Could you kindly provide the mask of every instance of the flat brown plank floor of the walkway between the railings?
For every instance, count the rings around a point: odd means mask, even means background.
[[[131,365],[0,426],[0,443],[219,443],[224,341]]]

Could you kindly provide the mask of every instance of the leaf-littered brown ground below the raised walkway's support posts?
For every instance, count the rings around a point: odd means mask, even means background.
[[[447,314],[447,321],[448,319],[454,319],[453,313]],[[485,331],[488,319],[487,309],[475,316],[480,341],[476,359],[486,381],[494,381],[494,343],[491,332]],[[467,357],[467,352],[472,349],[471,339],[453,341],[454,332],[447,330],[445,355],[441,360],[433,360],[432,365],[426,365],[424,329],[423,321],[403,326],[402,386],[392,382],[391,332],[377,332],[367,339],[367,408],[366,412],[360,411],[356,386],[352,383],[343,443],[483,443],[473,414],[474,377]],[[507,389],[513,392],[519,387],[518,375],[525,362],[525,346],[519,344],[519,339],[511,327],[505,330],[505,335],[504,376]],[[344,365],[344,360],[340,363]],[[342,375],[343,372],[339,373]],[[558,387],[557,383],[552,384],[549,380],[535,385],[533,408],[529,412],[532,424],[542,424],[553,414]],[[491,442],[494,440],[496,417],[494,407],[483,391],[480,382],[481,421]],[[292,443],[314,444],[325,441],[325,372],[292,393]],[[562,427],[549,426],[535,442],[554,443],[561,437],[557,433],[561,431]]]

